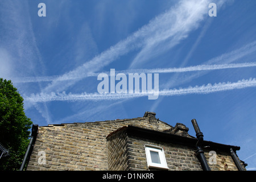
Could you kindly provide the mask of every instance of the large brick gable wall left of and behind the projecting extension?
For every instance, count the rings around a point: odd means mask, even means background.
[[[115,121],[71,123],[39,127],[27,170],[108,170],[106,137],[127,125],[152,130],[168,130],[172,126],[157,120],[154,113],[144,117]],[[40,163],[45,152],[46,163]]]

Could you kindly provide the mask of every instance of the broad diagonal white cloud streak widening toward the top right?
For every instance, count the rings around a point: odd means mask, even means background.
[[[156,16],[150,23],[128,36],[125,40],[118,42],[73,71],[58,76],[42,92],[51,93],[52,90],[61,92],[75,84],[76,81],[87,77],[90,73],[100,71],[100,69],[130,51],[144,49],[147,45],[158,44],[170,37],[176,37],[175,35],[179,36],[179,40],[181,37],[185,38],[188,32],[195,29],[198,23],[203,20],[203,15],[208,13],[207,3],[208,1],[203,0],[180,1],[166,13]],[[62,80],[68,80],[68,78],[73,78],[73,80],[63,84]]]

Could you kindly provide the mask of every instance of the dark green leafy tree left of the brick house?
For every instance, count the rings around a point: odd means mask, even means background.
[[[0,78],[0,142],[9,155],[0,159],[0,170],[18,170],[30,138],[31,119],[23,109],[23,98],[9,80]],[[1,155],[1,154],[0,154]]]

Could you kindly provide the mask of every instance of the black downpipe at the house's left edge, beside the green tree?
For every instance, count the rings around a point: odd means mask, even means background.
[[[19,171],[23,171],[24,167],[25,167],[25,164],[27,162],[27,159],[28,159],[28,156],[30,156],[31,154],[31,150],[35,144],[35,139],[36,139],[36,136],[38,135],[38,125],[32,125],[32,131],[31,131],[31,138],[30,138],[30,143],[28,144],[27,146],[27,151],[26,151],[26,154],[24,155],[24,159],[23,159],[23,162],[19,168]]]

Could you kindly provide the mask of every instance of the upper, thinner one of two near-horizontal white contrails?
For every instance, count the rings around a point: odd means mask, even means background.
[[[156,68],[156,69],[130,69],[125,71],[116,71],[116,73],[183,73],[183,72],[195,72],[195,71],[213,71],[218,69],[232,69],[232,68],[249,68],[256,67],[256,63],[238,63],[238,64],[213,64],[213,65],[196,65],[192,67],[184,68]],[[87,73],[86,77],[98,76],[100,73]],[[82,75],[80,75],[82,77]],[[64,77],[58,78],[58,76],[44,76],[44,77],[24,77],[14,78],[13,82],[41,82],[41,81],[53,81],[59,79],[59,81],[75,80],[76,77]]]

